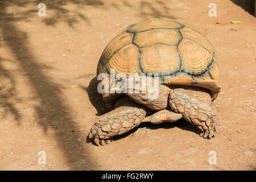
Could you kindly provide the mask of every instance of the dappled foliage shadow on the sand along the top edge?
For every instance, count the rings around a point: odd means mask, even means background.
[[[18,7],[30,7],[32,9],[26,12],[16,14],[16,20],[22,19],[30,21],[30,18],[35,16],[36,11],[39,10],[40,0],[27,0],[27,1],[3,1],[0,2],[2,6],[18,6]],[[80,13],[80,10],[84,9],[86,6],[93,6],[97,9],[108,11],[110,8],[114,7],[115,10],[120,11],[120,13],[125,13],[122,9],[123,7],[128,7],[129,9],[136,9],[137,15],[142,16],[143,19],[148,18],[168,18],[177,19],[175,16],[170,15],[172,9],[170,9],[170,3],[167,5],[165,1],[138,1],[138,6],[133,6],[127,1],[118,1],[112,3],[106,3],[102,0],[44,0],[46,4],[47,16],[42,18],[47,26],[55,26],[56,23],[65,22],[68,26],[73,27],[77,23],[85,22],[91,26],[90,18],[84,13]],[[68,6],[75,6],[75,10],[68,9]]]

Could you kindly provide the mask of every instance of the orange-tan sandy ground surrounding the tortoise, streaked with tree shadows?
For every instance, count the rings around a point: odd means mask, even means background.
[[[37,14],[39,2],[46,3],[46,17]],[[210,2],[217,17],[208,15]],[[229,0],[10,0],[0,6],[0,169],[256,169],[256,18],[240,6]],[[86,136],[108,112],[97,93],[98,59],[123,28],[153,17],[187,24],[216,48],[222,90],[213,106],[220,132],[203,139],[184,120],[147,123],[96,146]],[[38,164],[40,151],[45,165]],[[210,151],[215,165],[208,163]]]

